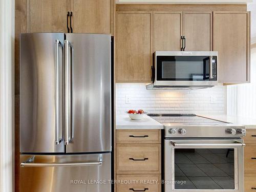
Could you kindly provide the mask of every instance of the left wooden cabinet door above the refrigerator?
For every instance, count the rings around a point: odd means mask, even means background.
[[[28,31],[68,32],[69,0],[29,0],[27,4]]]

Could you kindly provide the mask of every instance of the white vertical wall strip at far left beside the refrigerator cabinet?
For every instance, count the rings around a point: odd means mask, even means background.
[[[14,0],[0,1],[0,191],[14,190]]]

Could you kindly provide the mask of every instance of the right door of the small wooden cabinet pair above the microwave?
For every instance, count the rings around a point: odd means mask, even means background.
[[[185,51],[211,51],[212,13],[184,12],[183,35],[186,37]]]

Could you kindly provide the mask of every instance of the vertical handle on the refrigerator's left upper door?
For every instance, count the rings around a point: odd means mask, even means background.
[[[61,143],[63,135],[59,138],[59,46],[63,45],[58,39],[55,39],[55,144]]]

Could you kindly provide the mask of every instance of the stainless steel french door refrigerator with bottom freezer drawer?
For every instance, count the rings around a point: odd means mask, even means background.
[[[111,191],[111,36],[20,34],[20,191]]]

